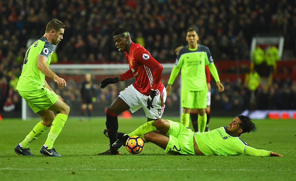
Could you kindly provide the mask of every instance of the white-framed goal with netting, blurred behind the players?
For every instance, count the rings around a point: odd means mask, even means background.
[[[170,77],[170,72],[174,64],[162,64],[163,74],[161,82],[166,86]],[[59,88],[57,83],[52,79],[46,78],[49,86],[60,95],[65,102],[70,106],[71,117],[81,116],[81,86],[84,81],[86,73],[91,74],[91,80],[94,85],[93,111],[92,117],[106,116],[106,108],[111,105],[119,92],[124,88],[134,83],[135,79],[109,84],[104,89],[100,88],[102,80],[108,77],[116,77],[129,69],[128,64],[82,64],[82,65],[50,65],[51,70],[59,77],[64,78],[67,82],[67,87]],[[181,92],[181,79],[178,76],[172,85],[170,96],[167,96],[165,102],[165,111],[163,116],[180,116],[180,92]],[[145,116],[143,109],[139,109],[132,116]],[[22,119],[39,117],[22,99]]]

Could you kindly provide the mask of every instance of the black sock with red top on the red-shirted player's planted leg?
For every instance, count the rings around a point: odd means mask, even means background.
[[[118,118],[117,114],[106,109],[106,128],[109,135],[110,149],[113,149],[112,144],[117,141]]]

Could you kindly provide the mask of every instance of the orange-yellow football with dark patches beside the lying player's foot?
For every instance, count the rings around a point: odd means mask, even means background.
[[[126,149],[131,154],[138,154],[144,149],[144,141],[139,136],[131,136],[126,140]]]

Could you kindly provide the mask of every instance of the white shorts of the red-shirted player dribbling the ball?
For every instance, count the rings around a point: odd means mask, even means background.
[[[153,99],[152,106],[148,110],[147,101],[149,96],[145,96],[140,93],[133,85],[129,85],[127,88],[123,89],[119,96],[122,98],[124,102],[130,106],[130,111],[132,113],[139,110],[139,108],[143,108],[146,116],[150,119],[160,119],[163,115],[163,111],[165,109],[165,100],[166,100],[166,90],[163,88],[162,92],[157,90],[157,95]]]

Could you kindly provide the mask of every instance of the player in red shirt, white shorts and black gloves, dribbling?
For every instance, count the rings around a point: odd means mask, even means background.
[[[120,52],[126,52],[129,70],[115,78],[106,78],[101,88],[118,81],[135,77],[135,83],[122,90],[115,101],[106,109],[106,136],[110,140],[110,149],[99,155],[120,155],[118,148],[122,142],[117,138],[118,114],[130,110],[132,113],[144,109],[147,121],[160,119],[165,108],[166,90],[160,82],[163,66],[157,62],[144,47],[133,43],[126,28],[118,28],[113,40]],[[116,142],[115,142],[116,141]]]

